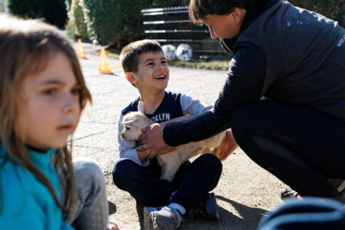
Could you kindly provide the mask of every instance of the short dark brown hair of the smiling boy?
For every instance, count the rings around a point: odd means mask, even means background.
[[[138,56],[145,52],[160,52],[162,46],[153,40],[140,40],[129,43],[120,53],[120,62],[125,73],[138,71]]]

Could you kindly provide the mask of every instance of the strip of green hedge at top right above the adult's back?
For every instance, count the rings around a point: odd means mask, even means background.
[[[339,21],[345,26],[345,1],[344,0],[290,0],[294,6],[299,6],[310,11],[322,14],[329,19]]]

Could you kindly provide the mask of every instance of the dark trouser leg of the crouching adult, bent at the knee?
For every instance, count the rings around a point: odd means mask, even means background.
[[[238,145],[254,162],[302,196],[335,197],[327,178],[345,179],[345,123],[300,105],[272,101],[237,108]]]

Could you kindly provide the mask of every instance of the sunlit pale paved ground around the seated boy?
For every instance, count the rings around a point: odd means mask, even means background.
[[[138,97],[138,90],[125,80],[120,68],[114,69],[113,75],[99,74],[100,47],[90,43],[83,43],[83,47],[88,59],[80,61],[93,104],[87,105],[81,116],[73,140],[73,157],[90,157],[101,166],[107,183],[109,219],[115,221],[120,229],[143,229],[142,205],[115,187],[110,174],[118,159],[118,115]],[[108,61],[110,66],[120,65],[114,56],[108,55]],[[167,90],[186,93],[212,105],[225,78],[224,70],[171,67]],[[181,229],[256,229],[259,219],[282,203],[279,199],[282,187],[286,186],[238,148],[223,162],[222,177],[213,191],[217,196],[220,220],[205,221],[187,214]]]

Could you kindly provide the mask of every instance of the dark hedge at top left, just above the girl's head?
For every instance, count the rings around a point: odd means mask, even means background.
[[[64,0],[7,0],[11,14],[24,19],[40,19],[56,25],[65,26],[67,11]]]

